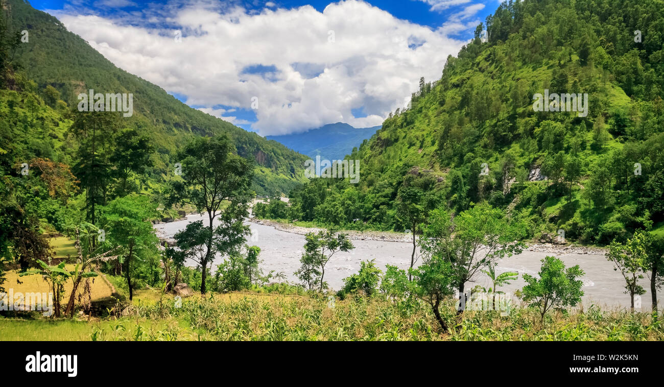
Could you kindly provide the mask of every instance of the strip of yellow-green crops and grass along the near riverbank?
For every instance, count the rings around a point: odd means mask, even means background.
[[[151,293],[151,294],[149,294]],[[142,295],[142,296],[141,296]],[[454,300],[441,307],[442,331],[428,305],[383,295],[343,300],[311,295],[232,292],[187,299],[141,291],[133,305],[104,319],[0,317],[2,341],[660,341],[661,318],[648,313],[554,311],[515,307],[466,311],[457,321]]]

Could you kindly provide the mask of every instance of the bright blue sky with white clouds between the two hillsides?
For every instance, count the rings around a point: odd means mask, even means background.
[[[497,0],[33,0],[116,66],[261,135],[379,125]],[[310,7],[304,7],[309,5]],[[313,7],[313,9],[311,9]],[[186,44],[174,44],[173,34]],[[252,104],[253,102],[253,104]]]

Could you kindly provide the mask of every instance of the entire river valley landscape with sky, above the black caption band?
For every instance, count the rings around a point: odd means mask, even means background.
[[[664,340],[661,0],[0,3],[0,341]]]

